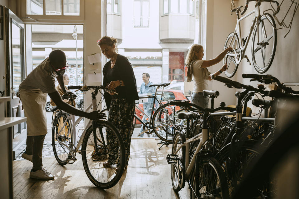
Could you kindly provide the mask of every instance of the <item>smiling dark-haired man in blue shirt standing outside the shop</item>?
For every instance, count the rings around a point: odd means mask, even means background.
[[[140,91],[139,94],[151,94],[151,93],[155,93],[156,88],[154,86],[150,87],[150,85],[152,85],[153,83],[150,82],[150,74],[147,72],[142,73],[142,81],[143,83],[140,86]],[[150,117],[151,115],[151,111],[152,111],[152,106],[153,106],[153,102],[154,102],[154,98],[145,98],[148,99],[148,102],[143,102],[143,109],[144,112]],[[157,100],[155,101],[156,107],[159,106],[159,103],[157,102]],[[142,122],[146,123],[146,116],[143,116],[142,118]],[[148,118],[150,119],[150,118]],[[141,129],[140,132],[144,131],[143,130],[143,125],[141,125]],[[144,137],[144,134],[141,134],[139,137]],[[147,137],[150,137],[150,134],[147,134]]]

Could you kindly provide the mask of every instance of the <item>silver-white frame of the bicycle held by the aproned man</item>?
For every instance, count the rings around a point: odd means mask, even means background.
[[[97,99],[92,99],[92,103],[89,104],[89,106],[84,110],[85,112],[87,112],[88,110],[90,110],[91,108],[93,108],[93,111],[96,111],[97,110]],[[66,113],[68,114],[68,113]],[[72,138],[72,144],[73,146],[75,146],[75,151],[78,152],[79,151],[79,148],[82,144],[82,140],[83,140],[83,137],[86,133],[86,129],[83,129],[83,133],[77,143],[77,137],[76,137],[76,126],[79,124],[79,122],[83,119],[83,117],[79,117],[76,121],[75,121],[75,116],[74,115],[71,115],[69,114],[69,116],[65,119],[64,123],[63,123],[63,126],[65,126],[66,122],[69,121],[70,123],[70,130],[71,130],[71,138]],[[74,124],[73,124],[73,121],[74,121]],[[89,127],[91,125],[91,120],[88,121],[87,123],[87,127]],[[61,133],[61,131],[63,130],[64,128],[61,128],[60,131],[58,132],[58,134]],[[61,145],[64,145],[66,146],[67,148],[69,148],[70,150],[70,153],[75,157],[75,159],[77,160],[76,156],[74,155],[74,152],[73,152],[73,147],[69,147],[69,145],[66,145],[64,142],[62,141],[59,141],[59,139],[57,139],[57,141],[59,142],[59,144]]]

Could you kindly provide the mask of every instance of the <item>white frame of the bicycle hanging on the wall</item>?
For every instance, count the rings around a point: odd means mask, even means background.
[[[246,17],[252,15],[253,13],[255,14],[254,20],[252,21],[252,24],[250,26],[250,30],[249,30],[249,34],[247,36],[246,42],[243,45],[240,22],[242,20],[244,20]],[[248,14],[246,14],[243,17],[241,17],[240,19],[237,19],[237,24],[236,24],[236,27],[235,27],[234,35],[233,35],[232,39],[230,40],[230,44],[233,41],[235,34],[238,32],[237,35],[238,35],[238,39],[239,39],[239,41],[241,43],[241,45],[239,47],[240,47],[240,49],[242,51],[242,57],[240,58],[240,60],[238,60],[238,58],[237,58],[237,52],[236,52],[235,47],[233,48],[235,54],[233,54],[233,53],[227,53],[226,54],[227,56],[235,57],[236,64],[239,64],[244,57],[247,58],[247,56],[245,55],[245,51],[247,49],[247,46],[248,46],[248,43],[249,43],[249,40],[250,40],[250,36],[251,36],[251,34],[252,34],[253,30],[254,30],[255,23],[257,23],[257,27],[259,27],[259,21],[257,19],[259,19],[260,16],[261,15],[260,15],[259,5],[257,5],[253,11],[249,12]],[[258,35],[258,43],[259,43],[259,28],[257,28],[257,35]],[[230,46],[230,44],[228,46]],[[258,49],[256,49],[256,50],[258,50]]]

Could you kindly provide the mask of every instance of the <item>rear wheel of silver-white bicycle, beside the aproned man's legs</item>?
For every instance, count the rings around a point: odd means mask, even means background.
[[[72,128],[70,126],[69,119],[66,121],[65,125],[62,126],[65,122],[65,119],[67,118],[66,115],[58,113],[53,118],[54,119],[52,122],[52,148],[53,148],[54,156],[60,165],[65,165],[67,164],[67,160],[68,160],[68,156],[70,155],[70,152],[69,152],[69,148],[59,143],[59,141],[64,142],[69,147],[73,147]],[[60,131],[61,128],[64,129]]]

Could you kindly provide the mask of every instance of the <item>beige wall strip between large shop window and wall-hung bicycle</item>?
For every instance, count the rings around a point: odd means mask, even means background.
[[[224,49],[227,35],[235,30],[236,16],[230,15],[230,0],[208,0],[206,16],[206,60],[215,58]],[[222,61],[208,68],[213,73],[223,66]],[[225,76],[224,73],[221,76]],[[233,80],[235,77],[232,78]],[[235,104],[235,89],[224,86],[223,83],[212,80],[210,90],[218,90],[220,96],[215,99],[214,107],[220,102],[226,105]],[[209,104],[210,106],[211,104]]]

